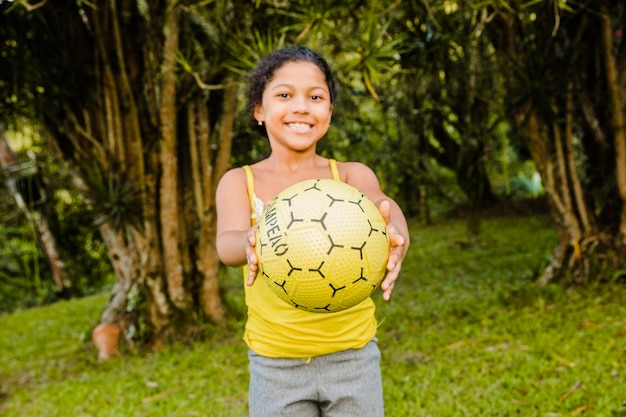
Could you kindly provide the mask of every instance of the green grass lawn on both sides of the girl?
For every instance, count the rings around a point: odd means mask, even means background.
[[[390,302],[377,295],[391,417],[626,416],[626,289],[538,288],[550,220],[419,229]],[[238,271],[224,282],[242,306]],[[0,316],[0,415],[247,415],[242,321],[208,340],[99,363],[106,294]]]

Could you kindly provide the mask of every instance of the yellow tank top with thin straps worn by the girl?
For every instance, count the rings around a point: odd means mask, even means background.
[[[258,217],[254,176],[244,166],[252,223]],[[336,161],[330,160],[335,180],[340,180]],[[258,209],[258,207],[257,207]],[[244,286],[248,320],[244,340],[255,353],[272,358],[311,358],[365,346],[376,334],[375,305],[371,298],[338,313],[322,314],[298,310],[278,298],[264,282]]]

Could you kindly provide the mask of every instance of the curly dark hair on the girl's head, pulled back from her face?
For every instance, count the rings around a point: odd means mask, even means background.
[[[254,109],[262,103],[263,92],[265,91],[267,83],[272,80],[276,70],[283,65],[289,62],[302,61],[310,62],[318,66],[326,78],[326,84],[328,84],[330,103],[333,104],[335,102],[337,98],[335,77],[324,58],[304,46],[286,46],[270,52],[265,58],[259,61],[257,66],[250,72],[248,76],[248,89],[246,91],[245,112],[248,124],[252,130],[261,136],[267,137],[267,131],[265,126],[259,126],[257,120],[254,118]]]

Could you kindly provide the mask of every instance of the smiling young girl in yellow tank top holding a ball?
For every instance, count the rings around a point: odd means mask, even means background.
[[[400,207],[358,162],[317,154],[337,95],[327,63],[293,46],[270,53],[250,75],[247,112],[269,139],[262,161],[228,171],[217,188],[217,250],[226,265],[245,265],[250,359],[250,416],[384,416],[380,351],[371,298],[331,314],[294,308],[255,284],[255,220],[276,194],[310,178],[334,178],[358,188],[387,222],[390,254],[381,287],[388,300],[409,246]]]

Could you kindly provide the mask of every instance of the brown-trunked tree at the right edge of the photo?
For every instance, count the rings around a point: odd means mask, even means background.
[[[486,34],[509,118],[542,176],[559,230],[540,282],[593,280],[603,269],[615,275],[626,243],[624,4],[491,3]]]

